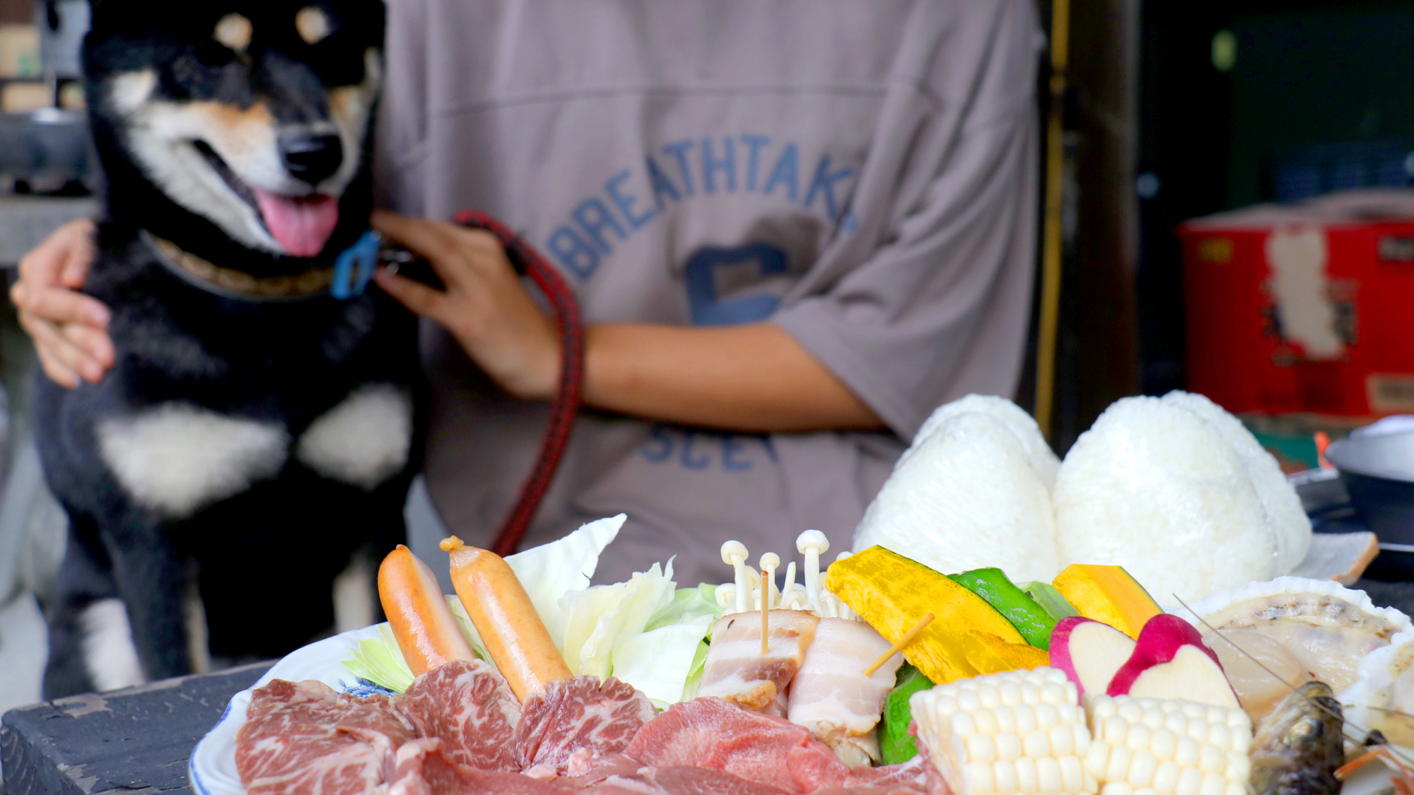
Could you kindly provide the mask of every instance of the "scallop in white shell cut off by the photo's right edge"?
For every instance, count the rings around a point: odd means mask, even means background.
[[[1394,745],[1414,747],[1414,629],[1360,661],[1359,679],[1340,693],[1350,729],[1380,730]]]

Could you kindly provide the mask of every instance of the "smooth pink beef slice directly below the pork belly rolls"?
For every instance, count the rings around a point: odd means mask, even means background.
[[[648,767],[707,767],[786,792],[844,784],[850,768],[793,723],[721,699],[673,704],[625,754]]]

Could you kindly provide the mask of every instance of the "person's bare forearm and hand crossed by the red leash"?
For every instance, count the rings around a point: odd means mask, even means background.
[[[447,328],[503,389],[549,398],[559,334],[486,232],[379,212],[373,225],[426,256],[447,291],[382,272],[378,283]],[[584,400],[590,406],[742,431],[881,427],[878,417],[793,337],[771,324],[687,328],[591,325]]]

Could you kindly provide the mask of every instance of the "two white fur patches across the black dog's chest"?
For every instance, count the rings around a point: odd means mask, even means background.
[[[368,383],[318,417],[294,453],[321,475],[372,489],[407,463],[411,436],[407,390]],[[280,423],[181,402],[103,420],[98,440],[119,484],[168,518],[189,516],[279,474],[291,448]]]

